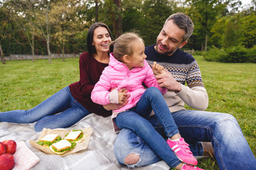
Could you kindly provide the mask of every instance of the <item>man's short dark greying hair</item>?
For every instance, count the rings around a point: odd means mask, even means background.
[[[193,33],[193,21],[191,20],[191,18],[185,13],[174,13],[166,19],[166,22],[164,24],[166,24],[170,20],[174,21],[178,28],[186,31],[185,35],[183,36],[183,41],[188,40],[188,38],[190,38]]]

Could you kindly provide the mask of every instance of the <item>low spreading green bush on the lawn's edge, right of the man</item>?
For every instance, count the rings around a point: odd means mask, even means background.
[[[256,46],[250,49],[235,46],[225,49],[211,47],[203,57],[212,62],[254,62],[256,63]]]

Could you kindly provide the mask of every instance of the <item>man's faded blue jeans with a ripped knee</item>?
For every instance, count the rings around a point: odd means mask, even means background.
[[[255,156],[233,115],[185,110],[171,114],[194,156],[203,155],[203,148],[198,141],[211,142],[215,159],[221,170],[255,169]],[[164,129],[155,116],[151,116],[148,120],[160,134],[163,134]],[[134,132],[123,129],[114,143],[114,154],[117,160],[124,164],[124,158],[129,153],[140,155],[140,160],[135,166],[146,166],[161,160]],[[174,164],[176,165],[178,164]]]

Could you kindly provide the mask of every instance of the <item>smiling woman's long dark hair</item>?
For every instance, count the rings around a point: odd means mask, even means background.
[[[92,41],[93,41],[93,33],[95,28],[98,27],[104,27],[107,29],[108,33],[110,34],[110,38],[111,40],[113,40],[112,37],[112,33],[110,31],[110,28],[108,28],[108,26],[105,23],[93,23],[92,26],[90,26],[88,33],[87,33],[87,50],[88,52],[92,55],[96,53],[96,49],[95,47],[92,45]]]

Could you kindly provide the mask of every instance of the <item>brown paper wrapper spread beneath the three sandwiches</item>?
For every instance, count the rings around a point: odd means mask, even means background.
[[[81,130],[84,133],[84,135],[87,134],[87,137],[85,138],[85,140],[83,140],[80,143],[77,143],[75,145],[75,147],[73,149],[71,149],[69,152],[65,152],[64,154],[58,154],[58,155],[63,157],[65,155],[73,154],[73,153],[78,152],[80,150],[87,149],[87,147],[89,145],[89,142],[90,142],[90,135],[92,135],[92,128],[84,128],[84,129],[81,129]],[[71,131],[72,130],[66,130],[66,129],[63,129],[63,128],[58,128],[58,129],[53,129],[53,130],[44,128],[41,132],[41,135],[38,137],[38,139],[36,141],[30,140],[29,142],[31,143],[31,145],[33,145],[33,147],[36,147],[37,149],[40,149],[41,151],[43,151],[47,154],[55,154],[55,153],[51,152],[49,148],[38,145],[36,142],[38,142],[41,138],[43,138],[46,135],[51,134],[51,133],[58,134],[61,138],[64,138],[65,135],[67,133],[71,132]]]

